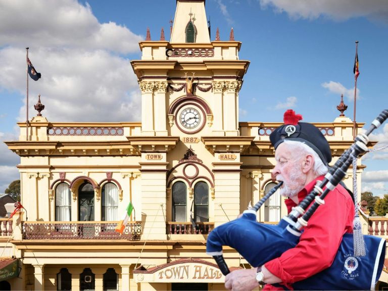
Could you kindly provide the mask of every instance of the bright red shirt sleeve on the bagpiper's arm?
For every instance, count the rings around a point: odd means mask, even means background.
[[[329,267],[342,236],[353,232],[354,204],[346,189],[337,186],[324,201],[308,221],[298,245],[265,264],[286,285]]]

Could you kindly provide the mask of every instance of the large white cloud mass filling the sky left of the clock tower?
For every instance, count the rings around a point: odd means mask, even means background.
[[[99,23],[89,5],[75,0],[0,1],[0,63],[6,72],[0,89],[25,95],[21,48],[30,43],[29,58],[42,74],[30,79],[30,118],[41,94],[42,115],[51,122],[140,121],[136,76],[129,59],[117,53],[138,52],[141,39],[124,26]]]

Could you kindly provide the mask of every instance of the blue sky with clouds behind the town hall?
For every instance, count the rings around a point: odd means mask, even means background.
[[[37,95],[50,122],[140,121],[141,94],[130,60],[150,28],[170,37],[175,0],[0,0],[0,193],[19,178],[18,140],[26,119],[26,50],[42,74],[29,80],[29,117]],[[368,127],[387,109],[386,0],[207,0],[211,40],[241,41],[250,66],[239,92],[240,121],[282,122],[294,109],[306,122],[332,122],[344,94],[353,120],[356,45],[356,121]],[[373,133],[388,143],[388,122]],[[362,191],[388,193],[388,149],[366,154]]]

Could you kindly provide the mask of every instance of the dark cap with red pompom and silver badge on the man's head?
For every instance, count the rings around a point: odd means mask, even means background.
[[[284,125],[276,128],[269,139],[275,150],[284,139],[296,140],[307,144],[321,158],[325,165],[331,162],[331,150],[329,143],[321,131],[311,123],[299,122],[302,115],[295,114],[294,110],[284,113]]]

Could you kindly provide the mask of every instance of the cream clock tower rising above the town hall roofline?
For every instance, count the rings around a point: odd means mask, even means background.
[[[139,43],[132,61],[142,100],[141,135],[238,136],[238,92],[249,61],[241,42],[211,41],[205,0],[177,0],[170,41]]]

